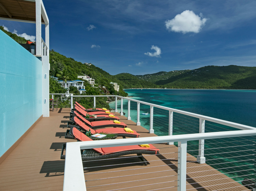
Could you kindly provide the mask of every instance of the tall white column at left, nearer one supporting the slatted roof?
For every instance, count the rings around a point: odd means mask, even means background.
[[[41,55],[41,0],[36,0],[36,55]]]

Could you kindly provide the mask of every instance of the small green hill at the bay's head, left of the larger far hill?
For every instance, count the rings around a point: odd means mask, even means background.
[[[115,77],[125,84],[124,88],[158,88],[158,85],[145,80],[140,80],[132,74],[121,73],[115,75]]]

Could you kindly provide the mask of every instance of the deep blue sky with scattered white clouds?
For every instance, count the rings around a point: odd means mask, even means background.
[[[49,18],[49,48],[111,75],[256,66],[255,0],[43,3]],[[30,40],[36,36],[35,24],[0,20],[0,25]]]

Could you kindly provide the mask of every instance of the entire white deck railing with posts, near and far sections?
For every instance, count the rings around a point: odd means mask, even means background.
[[[136,138],[136,139],[118,139],[118,140],[104,140],[104,141],[90,141],[90,142],[76,142],[76,143],[67,143],[66,149],[66,161],[65,161],[65,174],[64,174],[64,190],[72,190],[77,186],[76,190],[86,190],[85,182],[84,182],[84,172],[83,165],[81,160],[80,149],[90,149],[90,148],[99,148],[99,147],[111,147],[111,146],[127,146],[134,144],[143,144],[143,143],[164,143],[174,144],[174,142],[178,142],[178,190],[186,190],[186,153],[187,153],[187,141],[199,140],[198,146],[198,156],[197,162],[200,164],[205,163],[204,157],[204,140],[205,139],[219,139],[219,138],[232,138],[232,137],[241,137],[241,136],[253,136],[256,135],[256,128],[250,127],[247,125],[242,125],[238,123],[228,122],[217,118],[212,118],[208,116],[203,116],[199,114],[194,114],[178,109],[168,108],[164,106],[155,105],[152,103],[147,103],[139,100],[134,100],[131,98],[125,98],[120,96],[109,96],[109,95],[71,95],[71,109],[73,108],[73,104],[78,97],[93,97],[93,106],[96,107],[96,98],[99,97],[115,97],[115,112],[120,111],[121,115],[124,115],[124,107],[127,106],[127,119],[131,120],[131,102],[134,102],[137,105],[137,114],[133,115],[137,117],[137,125],[140,125],[140,106],[146,105],[149,106],[149,133],[154,133],[154,123],[153,118],[154,110],[163,109],[168,112],[168,136],[159,136],[159,137],[150,137],[150,138]],[[120,109],[118,109],[118,101],[120,100]],[[127,105],[124,105],[124,100],[127,100]],[[135,106],[133,107],[135,108]],[[194,134],[183,134],[183,135],[172,135],[173,134],[173,114],[182,114],[189,117],[194,117],[199,119],[199,126],[197,126],[197,132]],[[233,127],[239,130],[236,131],[227,131],[224,130],[222,132],[210,132],[205,133],[205,121],[213,122],[220,125],[225,125],[228,127]],[[209,126],[211,124],[208,124]],[[196,127],[195,127],[196,128]],[[241,131],[242,130],[242,131]],[[197,149],[196,149],[197,150]],[[71,165],[72,163],[72,165]],[[73,166],[75,165],[75,168]],[[75,176],[76,175],[76,176]],[[74,178],[74,184],[70,184],[69,178]],[[73,180],[73,179],[72,179]],[[70,187],[71,186],[71,187]],[[185,186],[185,187],[184,187]]]

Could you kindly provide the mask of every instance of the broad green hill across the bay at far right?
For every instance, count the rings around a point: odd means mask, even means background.
[[[204,66],[156,84],[166,88],[256,89],[256,67]]]

